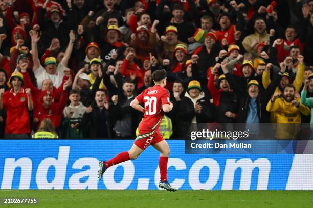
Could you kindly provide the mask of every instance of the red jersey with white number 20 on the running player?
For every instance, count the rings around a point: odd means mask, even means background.
[[[139,131],[159,131],[164,116],[162,105],[170,104],[169,91],[160,85],[145,89],[136,97],[139,103],[144,103],[145,114],[139,124]]]

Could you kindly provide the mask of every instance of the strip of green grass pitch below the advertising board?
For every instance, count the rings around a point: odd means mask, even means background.
[[[2,207],[313,207],[313,191],[0,190]],[[3,198],[37,198],[5,205]]]

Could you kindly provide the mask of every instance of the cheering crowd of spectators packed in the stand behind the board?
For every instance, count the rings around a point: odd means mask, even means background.
[[[158,69],[174,105],[168,137],[192,123],[313,123],[313,0],[0,0],[0,10],[1,138],[53,127],[59,138],[134,138],[143,115],[130,102]]]

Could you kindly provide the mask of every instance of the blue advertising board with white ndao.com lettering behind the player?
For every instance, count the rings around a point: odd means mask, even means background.
[[[169,140],[168,180],[182,190],[313,190],[313,154],[185,154]],[[1,189],[158,189],[159,152],[110,167],[132,140],[1,140]]]

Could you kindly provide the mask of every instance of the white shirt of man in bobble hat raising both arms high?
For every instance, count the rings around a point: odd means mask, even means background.
[[[41,85],[43,80],[50,79],[53,82],[53,86],[58,88],[62,84],[63,76],[64,76],[65,66],[62,63],[59,63],[57,66],[57,70],[55,74],[48,74],[46,69],[44,69],[41,65],[34,72],[35,77],[37,79],[38,89],[41,89]]]

